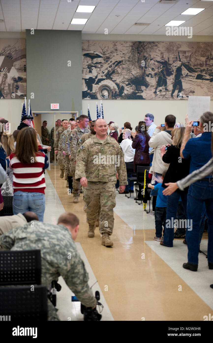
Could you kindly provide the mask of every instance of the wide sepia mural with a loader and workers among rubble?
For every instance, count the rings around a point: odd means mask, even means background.
[[[83,99],[213,96],[213,43],[82,41]]]

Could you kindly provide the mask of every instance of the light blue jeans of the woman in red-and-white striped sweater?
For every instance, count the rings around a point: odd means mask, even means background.
[[[40,222],[44,220],[45,197],[43,193],[17,191],[13,195],[13,213],[35,212]]]

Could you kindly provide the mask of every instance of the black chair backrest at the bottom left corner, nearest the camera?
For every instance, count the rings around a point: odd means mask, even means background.
[[[48,315],[45,286],[0,287],[1,320],[17,323],[46,321]]]

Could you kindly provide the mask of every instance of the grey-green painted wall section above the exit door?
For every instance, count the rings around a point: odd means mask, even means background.
[[[81,31],[31,32],[26,30],[27,99],[31,110],[54,112],[50,104],[59,103],[59,111],[81,113]]]

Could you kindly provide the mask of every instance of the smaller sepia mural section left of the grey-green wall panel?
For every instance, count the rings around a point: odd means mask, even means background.
[[[0,39],[0,99],[26,95],[25,39]]]

